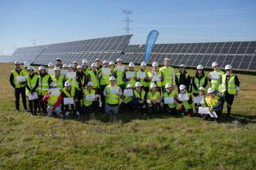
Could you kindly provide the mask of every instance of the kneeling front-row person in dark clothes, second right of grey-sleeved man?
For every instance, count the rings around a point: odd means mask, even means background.
[[[146,113],[147,103],[146,103],[146,91],[141,88],[141,83],[137,82],[135,84],[135,89],[133,89],[134,98],[132,98],[134,111],[137,112],[137,107],[141,107],[141,111]]]

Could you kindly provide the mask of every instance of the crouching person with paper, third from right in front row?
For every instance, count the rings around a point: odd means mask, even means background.
[[[186,85],[180,85],[180,94],[179,95],[185,95],[187,96],[187,100],[182,100],[179,97],[177,98],[178,102],[178,109],[179,111],[182,112],[182,116],[187,115],[187,116],[193,116],[193,101],[192,101],[192,96],[190,93],[187,93],[186,91]]]

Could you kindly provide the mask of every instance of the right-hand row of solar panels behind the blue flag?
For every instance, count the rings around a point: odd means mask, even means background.
[[[146,45],[130,45],[122,56],[134,63],[144,61]],[[203,42],[203,43],[174,43],[155,44],[148,63],[154,61],[164,62],[164,58],[170,59],[170,64],[179,66],[196,67],[202,64],[211,68],[211,64],[217,61],[220,68],[231,64],[235,69],[256,70],[256,41],[229,41],[229,42]]]

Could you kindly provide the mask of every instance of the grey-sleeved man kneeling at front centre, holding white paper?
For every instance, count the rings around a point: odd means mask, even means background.
[[[117,90],[118,89],[118,90]],[[107,85],[103,91],[106,97],[105,113],[117,114],[119,111],[119,96],[122,95],[122,90],[115,85],[115,76],[110,76],[110,85]]]

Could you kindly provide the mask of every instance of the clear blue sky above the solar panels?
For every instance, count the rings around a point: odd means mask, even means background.
[[[0,0],[0,55],[16,48],[126,34],[130,44],[255,41],[255,0]],[[35,41],[33,41],[35,40]]]

